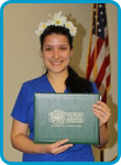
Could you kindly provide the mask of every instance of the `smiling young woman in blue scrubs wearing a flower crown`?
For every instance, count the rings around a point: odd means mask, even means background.
[[[47,23],[41,23],[38,31],[41,51],[46,74],[23,84],[12,117],[11,141],[14,148],[23,152],[23,162],[94,162],[88,144],[66,144],[68,139],[53,144],[34,144],[34,92],[98,92],[94,82],[80,78],[70,67],[73,37],[76,28],[58,12]],[[100,109],[100,111],[98,110]],[[92,106],[92,112],[100,121],[100,145],[109,140],[106,122],[110,109],[101,101]],[[30,135],[28,136],[28,130]]]

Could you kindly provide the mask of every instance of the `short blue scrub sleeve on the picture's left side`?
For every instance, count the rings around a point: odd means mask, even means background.
[[[23,122],[29,123],[29,90],[25,85],[21,87],[21,90],[18,95],[15,105],[13,107],[11,117]]]

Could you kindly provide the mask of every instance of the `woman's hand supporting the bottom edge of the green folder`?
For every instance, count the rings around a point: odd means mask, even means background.
[[[57,155],[73,146],[73,144],[65,144],[66,142],[68,142],[68,139],[55,142],[53,144],[37,144],[37,147],[40,147],[38,153],[41,150],[44,151],[44,153]]]

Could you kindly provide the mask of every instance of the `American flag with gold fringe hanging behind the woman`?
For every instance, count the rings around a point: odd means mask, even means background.
[[[102,101],[107,102],[110,88],[110,52],[105,3],[94,3],[86,77],[96,82]]]

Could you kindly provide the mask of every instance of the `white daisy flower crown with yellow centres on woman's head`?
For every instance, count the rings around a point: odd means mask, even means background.
[[[52,16],[51,14],[48,14],[48,16],[52,18],[52,20],[47,20],[46,22],[41,22],[38,29],[35,31],[35,33],[38,36],[43,34],[44,30],[50,25],[64,26],[69,30],[72,36],[76,35],[77,28],[74,26],[73,22],[67,21],[66,16],[62,15],[62,11],[55,13],[54,16]]]

